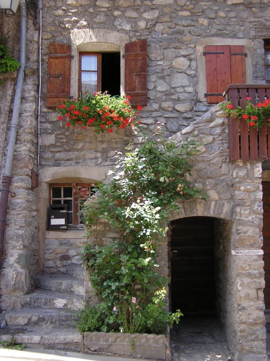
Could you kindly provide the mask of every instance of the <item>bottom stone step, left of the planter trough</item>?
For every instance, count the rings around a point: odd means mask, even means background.
[[[51,350],[82,350],[83,335],[77,327],[40,327],[19,326],[12,329],[0,329],[0,341],[21,343],[29,348],[45,348]]]

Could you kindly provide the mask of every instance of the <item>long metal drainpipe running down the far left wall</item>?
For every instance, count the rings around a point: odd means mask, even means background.
[[[4,250],[4,236],[7,214],[8,193],[11,183],[11,171],[16,142],[17,128],[19,123],[19,110],[21,94],[24,80],[24,69],[26,60],[26,3],[20,0],[20,68],[17,77],[16,92],[14,98],[13,113],[11,119],[10,134],[7,146],[6,164],[2,179],[1,199],[0,199],[0,269],[2,268],[2,255]]]

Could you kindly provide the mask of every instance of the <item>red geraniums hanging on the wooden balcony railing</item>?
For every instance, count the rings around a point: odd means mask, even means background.
[[[251,97],[247,97],[247,105],[244,109],[238,106],[233,109],[231,102],[226,102],[221,105],[222,110],[225,111],[231,118],[238,117],[246,119],[251,127],[261,128],[265,123],[270,125],[270,99],[265,99],[263,103],[253,105]]]

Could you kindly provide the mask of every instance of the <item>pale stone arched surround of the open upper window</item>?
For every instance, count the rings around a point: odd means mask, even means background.
[[[70,94],[78,96],[78,64],[79,52],[102,52],[115,51],[120,52],[120,90],[124,94],[125,88],[125,44],[129,42],[129,36],[104,29],[74,29],[71,35],[71,79]]]

